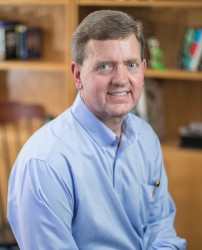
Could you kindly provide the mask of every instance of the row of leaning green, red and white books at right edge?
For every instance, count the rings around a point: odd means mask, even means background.
[[[189,27],[185,31],[179,57],[179,67],[189,71],[201,70],[202,28]]]

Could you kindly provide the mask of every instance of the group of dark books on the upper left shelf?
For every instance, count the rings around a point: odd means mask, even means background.
[[[18,21],[0,21],[0,61],[40,58],[42,32]]]

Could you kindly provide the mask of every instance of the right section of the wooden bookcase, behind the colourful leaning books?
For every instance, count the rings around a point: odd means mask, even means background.
[[[193,91],[202,91],[202,85],[199,84],[202,80],[202,72],[188,72],[178,68],[179,52],[182,46],[184,32],[187,26],[202,27],[201,22],[201,1],[87,1],[78,0],[77,2],[78,16],[80,22],[89,12],[99,9],[117,9],[123,10],[134,16],[136,19],[145,22],[144,33],[146,38],[155,35],[160,41],[160,48],[164,52],[164,62],[166,70],[157,71],[147,69],[146,78],[157,79],[161,83],[165,98],[165,130],[166,136],[178,136],[178,128],[181,125],[186,125],[188,121],[201,121],[202,112],[200,108],[196,111],[196,105],[202,107],[200,100],[195,100],[195,97],[189,96],[188,93]],[[158,18],[156,18],[158,17]],[[144,25],[144,24],[143,24]],[[182,82],[184,81],[184,84]],[[182,92],[185,95],[176,95],[183,88]],[[184,113],[179,107],[175,113],[180,113],[179,116],[174,115],[173,99],[177,99],[181,104],[184,104],[184,109],[190,110],[191,104],[193,113]],[[193,99],[193,101],[192,101]],[[174,101],[174,103],[176,103]],[[183,105],[182,105],[183,106]],[[174,111],[173,110],[173,111]],[[197,113],[197,114],[196,114]],[[175,118],[174,118],[175,117]]]

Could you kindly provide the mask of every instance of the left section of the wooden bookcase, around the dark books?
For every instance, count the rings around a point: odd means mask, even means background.
[[[45,106],[58,115],[75,98],[70,72],[70,39],[75,26],[73,1],[1,0],[0,20],[17,20],[42,29],[40,60],[0,62],[0,101]]]

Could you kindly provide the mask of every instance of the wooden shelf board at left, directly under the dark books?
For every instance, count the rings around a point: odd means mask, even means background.
[[[67,72],[68,66],[64,62],[50,62],[50,61],[1,61],[1,70],[37,70],[50,72]]]

